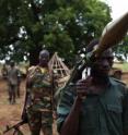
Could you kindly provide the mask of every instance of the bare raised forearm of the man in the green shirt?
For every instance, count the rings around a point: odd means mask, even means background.
[[[81,111],[81,99],[77,97],[73,107],[61,127],[60,135],[78,134],[80,111]]]

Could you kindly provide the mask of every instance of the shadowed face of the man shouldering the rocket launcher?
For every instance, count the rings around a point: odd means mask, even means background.
[[[110,49],[104,51],[98,58],[95,58],[92,65],[94,74],[98,76],[108,76],[109,70],[113,65],[113,59],[114,57]]]

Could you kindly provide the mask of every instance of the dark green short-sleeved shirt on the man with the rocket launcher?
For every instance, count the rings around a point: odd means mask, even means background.
[[[57,128],[61,130],[75,99],[75,88],[63,89],[57,107]],[[128,132],[128,94],[126,85],[109,78],[101,95],[88,96],[82,102],[79,135],[123,135]]]

